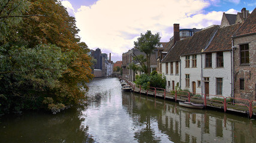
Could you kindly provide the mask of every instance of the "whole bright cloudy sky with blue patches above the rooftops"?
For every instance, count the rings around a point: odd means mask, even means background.
[[[134,41],[150,30],[160,42],[173,36],[173,24],[180,29],[203,29],[221,24],[223,13],[237,14],[242,8],[251,13],[256,0],[61,0],[76,18],[81,42],[89,49],[100,48],[111,60],[134,48]]]

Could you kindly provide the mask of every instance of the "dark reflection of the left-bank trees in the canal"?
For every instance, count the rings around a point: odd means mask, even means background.
[[[61,114],[32,113],[4,119],[0,142],[94,142],[81,129],[80,111],[70,108]],[[3,134],[4,133],[4,134]]]

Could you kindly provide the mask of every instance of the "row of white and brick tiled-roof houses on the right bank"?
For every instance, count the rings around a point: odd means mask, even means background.
[[[173,38],[152,56],[152,70],[166,77],[168,91],[179,86],[195,94],[256,100],[256,10],[224,13],[220,26],[197,30],[188,38],[180,33],[174,24]],[[135,52],[133,48],[122,57],[123,77],[131,81],[135,73],[127,67]]]

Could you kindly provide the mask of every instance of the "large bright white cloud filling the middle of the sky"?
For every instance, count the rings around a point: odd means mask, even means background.
[[[79,35],[90,48],[110,49],[121,55],[133,48],[146,30],[159,32],[167,42],[173,32],[165,29],[208,6],[209,2],[201,0],[100,0],[77,10],[76,20]]]

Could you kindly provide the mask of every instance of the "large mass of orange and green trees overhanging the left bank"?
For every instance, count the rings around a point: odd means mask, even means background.
[[[5,10],[10,4],[17,10]],[[93,74],[74,17],[57,0],[7,0],[2,6],[0,23],[10,24],[0,35],[0,114],[40,108],[57,113],[82,102]]]

